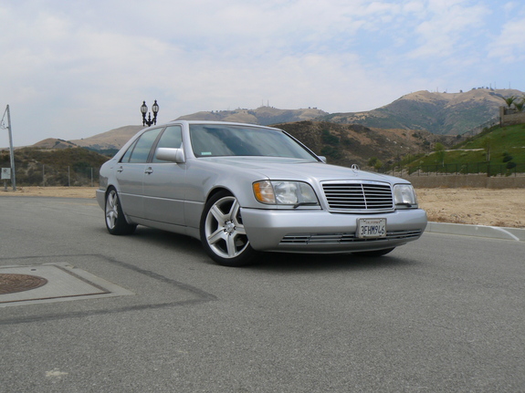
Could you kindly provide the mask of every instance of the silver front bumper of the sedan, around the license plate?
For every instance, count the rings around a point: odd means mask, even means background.
[[[407,209],[379,214],[338,214],[326,211],[241,211],[251,246],[259,251],[352,253],[392,248],[417,240],[425,231],[426,213]],[[386,219],[386,237],[362,239],[360,218]]]

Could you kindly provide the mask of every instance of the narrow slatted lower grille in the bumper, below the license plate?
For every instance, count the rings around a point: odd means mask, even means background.
[[[420,230],[387,232],[386,237],[359,238],[355,233],[290,233],[282,238],[280,244],[341,244],[356,242],[377,242],[385,240],[414,239],[421,236]]]

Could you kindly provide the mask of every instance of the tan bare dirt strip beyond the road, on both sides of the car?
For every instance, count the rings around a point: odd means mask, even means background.
[[[18,187],[1,196],[95,198],[97,187]],[[428,221],[525,228],[525,189],[417,189]]]

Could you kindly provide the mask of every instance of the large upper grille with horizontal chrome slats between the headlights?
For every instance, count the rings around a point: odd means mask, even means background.
[[[382,182],[324,182],[324,196],[331,211],[388,212],[394,210],[390,184]]]

